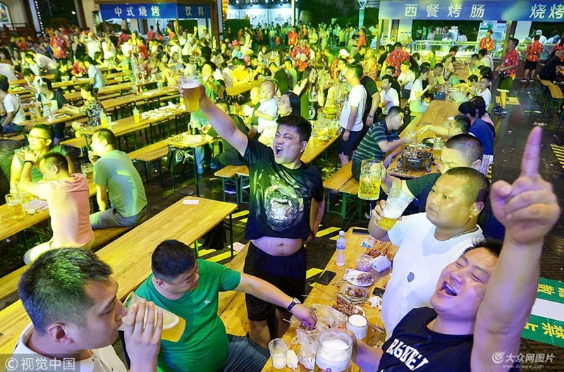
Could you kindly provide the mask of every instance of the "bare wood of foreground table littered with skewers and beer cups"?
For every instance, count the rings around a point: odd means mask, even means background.
[[[366,248],[361,246],[362,241],[367,237],[367,235],[355,235],[353,234],[352,231],[353,228],[350,228],[348,232],[345,234],[345,237],[347,237],[347,247],[345,249],[345,255],[346,255],[345,266],[343,267],[336,266],[335,264],[336,253],[334,253],[333,256],[331,256],[331,260],[329,261],[329,263],[327,263],[325,270],[333,271],[337,275],[335,275],[335,278],[331,280],[331,283],[329,283],[329,285],[322,285],[319,283],[315,283],[312,291],[309,292],[309,295],[306,297],[304,301],[304,304],[306,306],[311,307],[315,304],[333,306],[333,304],[336,304],[337,293],[339,290],[341,290],[341,286],[343,285],[342,282],[343,282],[343,276],[345,275],[345,269],[356,268],[357,266],[356,257],[359,254],[363,254],[367,250]],[[385,242],[381,244],[378,241],[376,241],[376,244],[374,244],[374,248],[381,249],[382,251],[384,251],[386,248],[389,248],[391,250],[397,249],[390,242]],[[389,277],[390,277],[389,269],[384,271],[383,273],[377,274],[376,283],[374,283],[374,285],[371,285],[370,287],[367,287],[369,290],[369,297],[372,297],[372,290],[374,289],[374,287],[384,288],[384,284],[388,283]],[[364,316],[366,316],[369,323],[379,326],[382,325],[381,311],[379,309],[370,306],[369,302],[364,302],[363,304],[360,304],[360,307],[362,307],[362,310],[364,311]],[[294,337],[295,337],[295,328],[293,328],[290,325],[290,328],[286,330],[286,333],[282,338],[283,340],[286,340],[286,342],[288,342],[288,345],[292,345],[292,340]],[[262,371],[270,372],[271,368],[272,368],[271,359],[269,359],[269,361],[266,362],[264,368],[262,368]],[[292,370],[286,367],[285,371],[290,372]],[[299,364],[298,368],[295,371],[306,372],[309,370],[307,370],[304,366],[302,366],[302,364]],[[360,371],[360,368],[358,368],[355,364],[353,364],[352,371],[355,372]]]

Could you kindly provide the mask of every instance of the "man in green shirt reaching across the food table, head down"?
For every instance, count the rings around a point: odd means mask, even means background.
[[[313,311],[274,285],[219,263],[196,259],[183,242],[161,242],[152,254],[151,266],[152,275],[135,292],[182,318],[178,324],[185,323],[178,341],[166,340],[163,333],[157,364],[161,372],[262,370],[268,350],[248,337],[226,333],[217,315],[219,292],[252,294],[288,309],[307,328],[317,323]]]

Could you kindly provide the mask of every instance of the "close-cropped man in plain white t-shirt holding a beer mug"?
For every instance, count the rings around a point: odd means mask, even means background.
[[[411,309],[429,306],[442,268],[473,241],[483,239],[477,221],[489,187],[489,180],[479,171],[453,168],[431,188],[425,213],[405,216],[396,223],[393,220],[400,218],[403,209],[386,209],[384,200],[376,204],[368,224],[370,235],[399,247],[382,299],[382,321],[388,335]],[[383,218],[393,225],[389,231],[377,224]]]

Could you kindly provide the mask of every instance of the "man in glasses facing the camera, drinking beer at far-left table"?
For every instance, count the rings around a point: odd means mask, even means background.
[[[20,177],[24,166],[25,151],[33,151],[37,155],[38,160],[32,164],[31,168],[31,177],[32,182],[34,183],[37,183],[43,179],[43,175],[39,171],[39,161],[41,161],[41,159],[43,159],[43,156],[45,156],[45,154],[47,154],[48,152],[56,152],[63,155],[67,160],[69,173],[74,173],[75,166],[65,149],[63,149],[63,147],[59,145],[53,146],[54,137],[55,134],[51,125],[33,125],[33,128],[30,130],[30,134],[27,135],[27,141],[30,143],[29,146],[14,151],[10,170],[11,192],[18,192],[18,183],[20,182]]]

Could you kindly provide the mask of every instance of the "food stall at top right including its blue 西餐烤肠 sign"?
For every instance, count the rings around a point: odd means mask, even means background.
[[[487,30],[492,30],[492,38],[496,47],[492,51],[494,59],[502,58],[510,37],[524,41],[529,36],[532,22],[561,22],[564,19],[564,1],[549,0],[468,0],[468,1],[396,1],[382,0],[379,11],[379,32],[381,40],[388,42],[400,41],[410,44],[411,51],[419,51],[425,55],[428,51],[436,51],[441,57],[448,53],[450,46],[459,46],[457,57],[470,58],[479,50],[479,41]],[[424,20],[427,30],[436,30],[433,37],[412,40],[412,25],[414,20]],[[452,21],[450,27],[434,27]],[[475,21],[476,36],[474,40],[466,42],[456,40],[460,21]],[[446,30],[448,29],[448,30]],[[452,35],[451,41],[443,41],[446,34]],[[522,49],[526,47],[523,43]],[[546,45],[546,49],[552,49]]]

